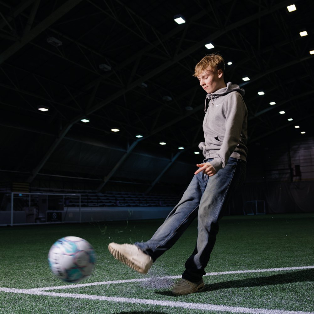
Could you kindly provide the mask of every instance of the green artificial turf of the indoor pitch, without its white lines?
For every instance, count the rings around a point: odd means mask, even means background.
[[[55,277],[47,263],[51,245],[64,236],[79,236],[94,247],[95,271],[82,283],[151,278],[143,282],[101,284],[47,292],[116,298],[137,298],[213,304],[232,307],[314,312],[314,269],[205,276],[205,289],[173,296],[178,279],[194,249],[197,225],[165,252],[147,275],[116,261],[110,242],[148,240],[162,220],[0,228],[0,287],[16,289],[68,285]],[[301,267],[314,265],[314,214],[228,216],[220,221],[216,245],[207,272]],[[173,304],[172,304],[173,305]],[[233,311],[233,310],[232,310]],[[75,299],[65,296],[0,292],[0,313],[202,313],[179,306],[146,305],[114,300]]]

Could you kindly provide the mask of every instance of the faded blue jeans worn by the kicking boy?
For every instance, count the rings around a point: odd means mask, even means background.
[[[198,217],[197,243],[182,274],[182,278],[198,282],[205,275],[204,269],[216,241],[218,220],[231,194],[243,184],[245,174],[246,162],[230,157],[225,168],[214,176],[209,177],[202,172],[194,175],[180,202],[152,238],[147,242],[136,242],[135,245],[155,261],[175,244],[193,219]]]

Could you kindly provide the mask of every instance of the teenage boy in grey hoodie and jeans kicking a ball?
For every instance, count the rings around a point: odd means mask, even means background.
[[[185,263],[182,279],[172,293],[183,295],[204,288],[203,275],[230,195],[241,186],[246,173],[247,109],[244,90],[224,81],[225,62],[218,54],[203,57],[193,76],[206,91],[203,121],[204,142],[198,147],[205,160],[194,172],[180,202],[147,242],[109,244],[110,253],[139,273],[147,273],[153,262],[179,239],[198,217],[194,252]],[[206,108],[207,107],[207,108]]]

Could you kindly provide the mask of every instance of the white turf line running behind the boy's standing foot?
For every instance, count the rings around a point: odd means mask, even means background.
[[[284,270],[301,270],[301,269],[311,269],[313,266],[300,266],[300,267],[282,267],[282,268],[265,268],[265,269],[252,269],[252,270],[232,270],[227,272],[218,272],[218,273],[206,273],[205,276],[217,276],[217,275],[226,275],[226,274],[240,274],[240,273],[263,273],[263,272],[278,272]],[[180,276],[164,276],[164,277],[149,277],[149,278],[137,278],[137,279],[125,279],[125,280],[111,280],[111,281],[97,281],[91,282],[88,284],[68,284],[62,286],[53,286],[53,287],[44,287],[44,288],[33,288],[28,289],[30,291],[45,291],[45,290],[59,290],[59,289],[71,289],[71,288],[81,288],[81,287],[90,287],[90,286],[98,286],[103,284],[124,284],[129,282],[141,282],[141,281],[149,281],[156,279],[177,279],[181,278]]]

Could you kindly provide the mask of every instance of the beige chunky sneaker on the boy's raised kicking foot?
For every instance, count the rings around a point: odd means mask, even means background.
[[[153,264],[153,259],[134,244],[117,244],[112,242],[109,243],[108,249],[114,258],[138,273],[146,274]]]

